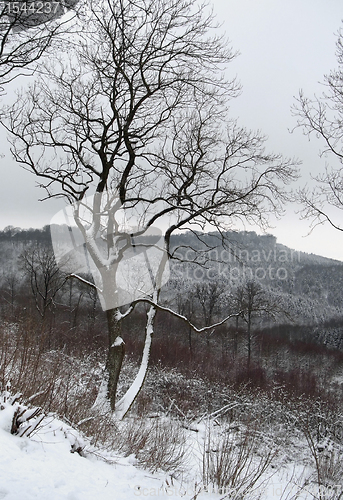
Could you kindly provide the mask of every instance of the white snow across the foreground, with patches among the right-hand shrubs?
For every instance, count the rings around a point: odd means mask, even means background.
[[[201,491],[194,479],[187,483],[186,476],[184,481],[176,481],[162,472],[152,474],[137,467],[134,456],[123,457],[114,451],[109,453],[97,449],[77,430],[53,415],[46,416],[30,437],[12,435],[11,424],[17,406],[9,403],[2,406],[0,500],[233,498],[211,488],[207,492]],[[199,425],[197,431],[190,431],[189,444],[193,451],[197,449],[200,452],[205,435],[204,425]],[[83,456],[77,449],[82,450]],[[189,477],[194,478],[193,475]],[[248,495],[245,498],[289,500],[298,491],[294,485],[300,478],[301,468],[294,464],[277,468],[274,473],[268,471],[261,488],[251,492],[251,497]],[[313,496],[303,491],[296,498],[310,499]]]

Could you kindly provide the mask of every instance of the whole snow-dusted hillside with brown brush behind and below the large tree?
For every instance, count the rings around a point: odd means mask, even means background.
[[[251,269],[255,255],[268,266],[285,255],[272,238],[244,238]],[[118,421],[94,408],[108,342],[97,295],[71,280],[61,288],[49,249],[22,254],[25,245],[0,245],[0,262],[13,264],[0,290],[0,500],[342,500],[339,263],[282,262],[290,279],[268,289],[276,311],[288,300],[293,322],[315,326],[272,329],[257,311],[251,338],[243,317],[207,336],[159,311],[143,390]],[[215,319],[238,290],[186,284],[171,280],[167,305],[198,325],[213,297]],[[140,309],[123,323],[119,397],[137,374],[144,325]]]

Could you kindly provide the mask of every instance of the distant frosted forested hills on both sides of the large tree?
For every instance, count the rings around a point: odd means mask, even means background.
[[[218,281],[230,291],[254,279],[278,296],[294,321],[321,324],[343,319],[343,263],[298,252],[277,243],[273,235],[254,231],[187,232],[172,237],[170,284]],[[30,244],[51,245],[49,226],[42,229],[7,227],[0,231],[2,273],[15,270],[18,255]],[[197,250],[197,254],[193,251]],[[183,262],[180,262],[183,260]],[[335,328],[337,328],[335,326]]]

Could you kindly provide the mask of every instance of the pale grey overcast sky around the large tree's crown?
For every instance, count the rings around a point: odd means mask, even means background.
[[[240,55],[230,65],[243,86],[232,102],[232,115],[248,128],[268,136],[267,149],[302,160],[301,182],[310,173],[323,171],[318,157],[320,144],[297,130],[290,107],[302,88],[311,96],[321,92],[323,75],[337,66],[335,41],[343,26],[342,0],[213,0],[214,11]],[[38,202],[44,196],[36,178],[11,160],[1,133],[0,228],[42,227],[49,224],[62,201]],[[329,226],[317,227],[311,235],[309,223],[300,221],[297,207],[287,206],[286,215],[273,221],[270,233],[280,243],[343,260],[343,234]],[[342,214],[343,217],[343,214]],[[247,227],[252,230],[254,228]]]

